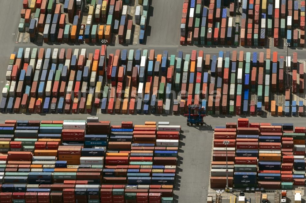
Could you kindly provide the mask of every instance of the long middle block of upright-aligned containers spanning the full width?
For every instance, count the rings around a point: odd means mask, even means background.
[[[296,52],[292,59],[270,49],[212,56],[193,50],[185,59],[181,51],[155,55],[153,49],[124,49],[107,59],[106,45],[94,53],[19,48],[9,59],[0,110],[184,115],[195,104],[208,115],[261,115],[263,106],[272,116],[304,115],[303,101],[290,96],[304,92],[304,64]],[[292,82],[285,77],[289,67]],[[276,103],[271,94],[283,99]]]

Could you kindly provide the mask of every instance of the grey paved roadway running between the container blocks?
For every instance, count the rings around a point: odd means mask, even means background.
[[[169,1],[169,2],[168,2]],[[182,50],[184,53],[191,53],[192,50],[203,50],[204,53],[217,54],[220,50],[233,51],[233,47],[196,47],[196,46],[179,46],[179,19],[181,15],[180,0],[178,5],[172,7],[178,1],[175,0],[157,0],[153,1],[152,7],[153,16],[151,16],[149,26],[152,26],[150,36],[147,38],[147,45],[130,45],[129,47],[116,45],[109,46],[108,53],[114,53],[115,49],[155,49],[155,53],[162,53],[163,50],[168,50],[169,54],[177,54]],[[159,6],[165,6],[170,9],[160,8]],[[38,45],[31,43],[15,43],[17,34],[17,25],[20,20],[20,9],[22,4],[19,0],[0,1],[0,64],[2,73],[0,75],[0,89],[5,83],[5,70],[9,61],[9,55],[16,51],[19,47],[39,48]],[[179,8],[179,9],[178,9]],[[175,12],[167,12],[167,11]],[[175,13],[175,14],[173,14]],[[157,14],[157,15],[156,15]],[[160,16],[159,16],[160,14]],[[165,19],[166,24],[162,24],[160,20]],[[172,23],[172,21],[176,20]],[[170,22],[171,21],[171,22]],[[159,25],[159,23],[161,25]],[[165,30],[166,33],[162,30]],[[150,44],[151,43],[151,44]],[[166,45],[167,44],[167,45]],[[44,48],[87,48],[88,52],[93,52],[98,46],[92,45],[47,45],[43,44]],[[271,48],[272,51],[278,51],[280,55],[286,55],[285,50],[279,48]],[[237,51],[243,50],[245,52],[265,52],[265,48],[241,48]],[[289,49],[290,52],[293,50]],[[296,50],[298,52],[298,59],[306,59],[306,52],[304,50]],[[3,82],[2,82],[3,81]],[[0,116],[0,122],[4,122],[6,119],[24,119],[24,120],[63,120],[63,119],[86,119],[88,114],[77,115],[25,115],[25,114],[3,114]],[[99,115],[100,120],[110,120],[112,124],[120,124],[121,121],[132,120],[135,124],[142,124],[145,120],[151,121],[170,121],[172,124],[182,126],[182,139],[181,150],[179,151],[179,168],[177,175],[177,188],[175,191],[175,197],[178,198],[178,202],[204,202],[206,201],[208,181],[209,181],[209,169],[211,161],[211,143],[212,143],[212,131],[211,127],[225,125],[226,122],[236,122],[238,117],[224,117],[215,118],[209,116],[205,119],[207,126],[192,126],[186,125],[186,119],[182,116],[155,116],[155,115]],[[249,117],[251,122],[277,122],[277,123],[294,123],[295,126],[304,126],[305,118],[290,118],[278,117],[278,118],[261,118],[261,117]]]

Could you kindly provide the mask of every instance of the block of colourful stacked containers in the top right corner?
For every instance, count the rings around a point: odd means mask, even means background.
[[[181,45],[267,46],[266,38],[271,37],[270,46],[282,46],[282,38],[292,47],[305,46],[304,1],[243,0],[239,2],[239,13],[234,2],[206,3],[184,2]]]

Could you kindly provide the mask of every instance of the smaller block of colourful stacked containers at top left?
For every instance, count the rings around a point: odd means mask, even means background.
[[[55,0],[32,0],[28,3],[24,0],[19,31],[29,32],[31,42],[42,33],[45,43],[78,41],[95,44],[102,39],[111,43],[112,36],[117,34],[120,44],[130,43],[133,22],[128,20],[129,8],[123,5],[126,2],[129,1],[65,0],[57,3]],[[86,4],[88,11],[85,13]],[[148,9],[148,0],[142,7]],[[144,14],[146,19],[147,14]],[[143,27],[145,23],[146,20],[142,20]]]

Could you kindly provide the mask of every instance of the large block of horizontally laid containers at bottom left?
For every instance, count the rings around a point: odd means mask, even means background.
[[[0,126],[1,201],[173,202],[180,126],[98,117]]]

